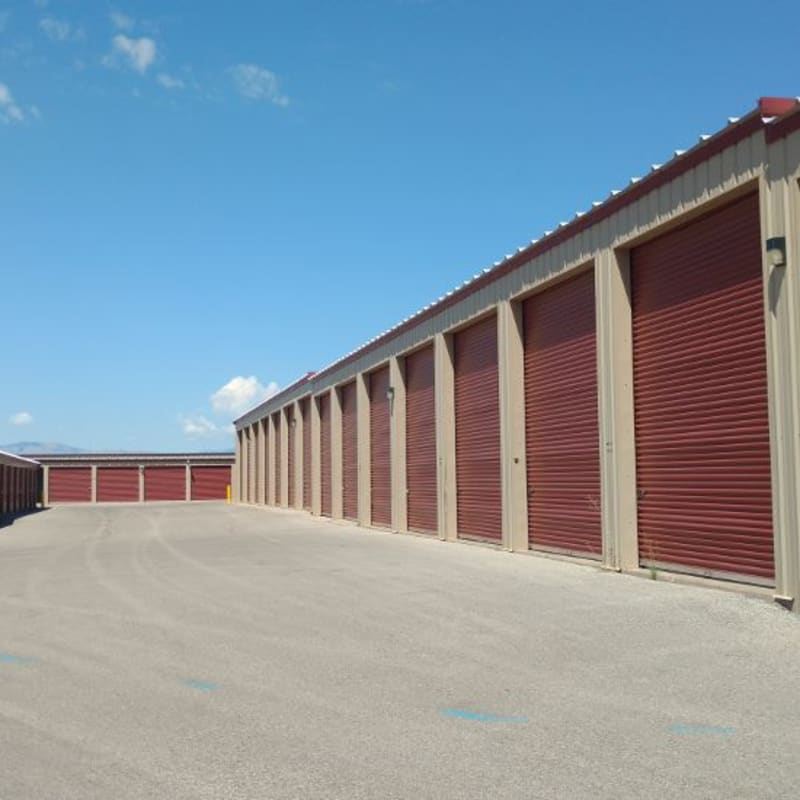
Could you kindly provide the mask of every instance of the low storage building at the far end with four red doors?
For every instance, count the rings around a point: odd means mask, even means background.
[[[231,453],[37,455],[46,505],[225,500]]]

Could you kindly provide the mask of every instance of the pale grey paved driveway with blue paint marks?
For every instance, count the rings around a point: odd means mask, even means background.
[[[0,798],[790,798],[761,600],[221,504],[0,528]]]

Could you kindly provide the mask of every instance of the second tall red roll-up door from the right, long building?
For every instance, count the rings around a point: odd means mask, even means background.
[[[523,318],[528,538],[600,556],[594,272],[529,298]]]

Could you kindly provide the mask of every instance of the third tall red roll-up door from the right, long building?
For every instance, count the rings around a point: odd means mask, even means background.
[[[497,317],[454,336],[458,535],[502,538]]]

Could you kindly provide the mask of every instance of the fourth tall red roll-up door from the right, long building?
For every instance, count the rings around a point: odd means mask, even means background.
[[[406,356],[406,481],[408,527],[436,533],[436,397],[433,346]]]

